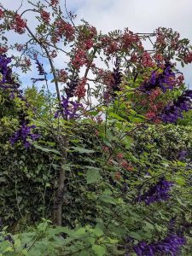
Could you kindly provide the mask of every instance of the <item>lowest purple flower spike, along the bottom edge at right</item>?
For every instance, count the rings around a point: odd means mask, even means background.
[[[186,240],[183,237],[169,235],[162,241],[149,244],[146,241],[140,241],[133,249],[137,256],[154,256],[159,254],[177,256],[185,242]]]

